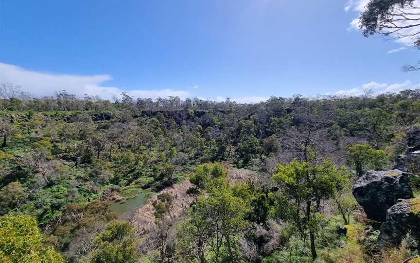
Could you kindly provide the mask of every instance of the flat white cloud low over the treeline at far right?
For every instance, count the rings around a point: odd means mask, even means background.
[[[365,90],[371,89],[374,96],[381,95],[384,93],[398,93],[406,89],[416,89],[420,88],[420,85],[414,85],[410,81],[405,81],[403,83],[378,83],[370,82],[363,84],[360,87],[348,89],[348,90],[339,90],[335,92],[337,96],[360,96],[364,94]]]

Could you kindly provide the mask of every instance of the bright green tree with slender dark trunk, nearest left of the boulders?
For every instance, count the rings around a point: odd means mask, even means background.
[[[306,149],[305,155],[313,155]],[[337,169],[329,160],[316,164],[314,157],[308,161],[292,161],[289,164],[279,164],[273,180],[280,185],[276,205],[277,216],[294,224],[302,235],[309,229],[312,258],[315,260],[315,231],[318,228],[317,213],[322,200],[336,196],[345,187],[349,175],[346,168]],[[304,217],[301,217],[304,214]]]

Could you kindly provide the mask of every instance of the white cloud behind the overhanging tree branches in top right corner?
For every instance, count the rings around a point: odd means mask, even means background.
[[[366,6],[367,4],[370,2],[370,0],[349,0],[347,2],[347,4],[344,7],[344,10],[346,12],[349,11],[354,11],[359,13],[362,13],[366,10]],[[413,1],[413,5],[414,6],[420,6],[420,0],[414,0]],[[407,10],[405,10],[407,11]],[[403,14],[403,11],[398,11],[396,10],[395,12],[400,12],[400,14]],[[407,12],[410,13],[410,12]],[[416,12],[414,12],[416,13]],[[414,14],[414,15],[405,15],[407,18],[413,19],[411,21],[394,21],[394,23],[398,26],[406,26],[409,24],[412,24],[412,21],[416,21],[420,19],[420,14]],[[360,28],[360,20],[359,17],[353,19],[350,22],[350,27],[348,28],[349,31],[352,30],[359,30]],[[398,36],[402,36],[402,35],[411,35],[413,33],[417,33],[418,32],[418,27],[411,27],[411,28],[407,28],[404,30],[399,31],[398,33],[392,33],[390,35],[390,38],[395,38],[395,42],[403,44],[404,46],[412,46],[414,41],[417,40],[417,36],[410,36],[410,37],[403,37],[403,38],[397,38]]]

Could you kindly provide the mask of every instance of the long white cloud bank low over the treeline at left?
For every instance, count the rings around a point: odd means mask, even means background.
[[[112,80],[110,75],[79,76],[43,73],[0,62],[0,82],[12,82],[15,85],[20,85],[23,91],[36,96],[52,96],[55,91],[64,89],[79,96],[84,94],[99,95],[103,99],[119,97],[124,90],[102,85],[109,80]],[[178,96],[185,99],[190,95],[187,91],[172,89],[127,90],[126,93],[135,98],[151,99],[169,96]]]

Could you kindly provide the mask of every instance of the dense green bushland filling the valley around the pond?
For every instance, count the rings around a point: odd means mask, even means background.
[[[35,228],[34,251],[68,262],[371,262],[382,252],[363,239],[351,185],[391,168],[420,124],[419,90],[257,104],[60,92],[0,105],[0,220],[36,218],[46,236]],[[157,193],[144,211],[112,212],[142,191]]]

